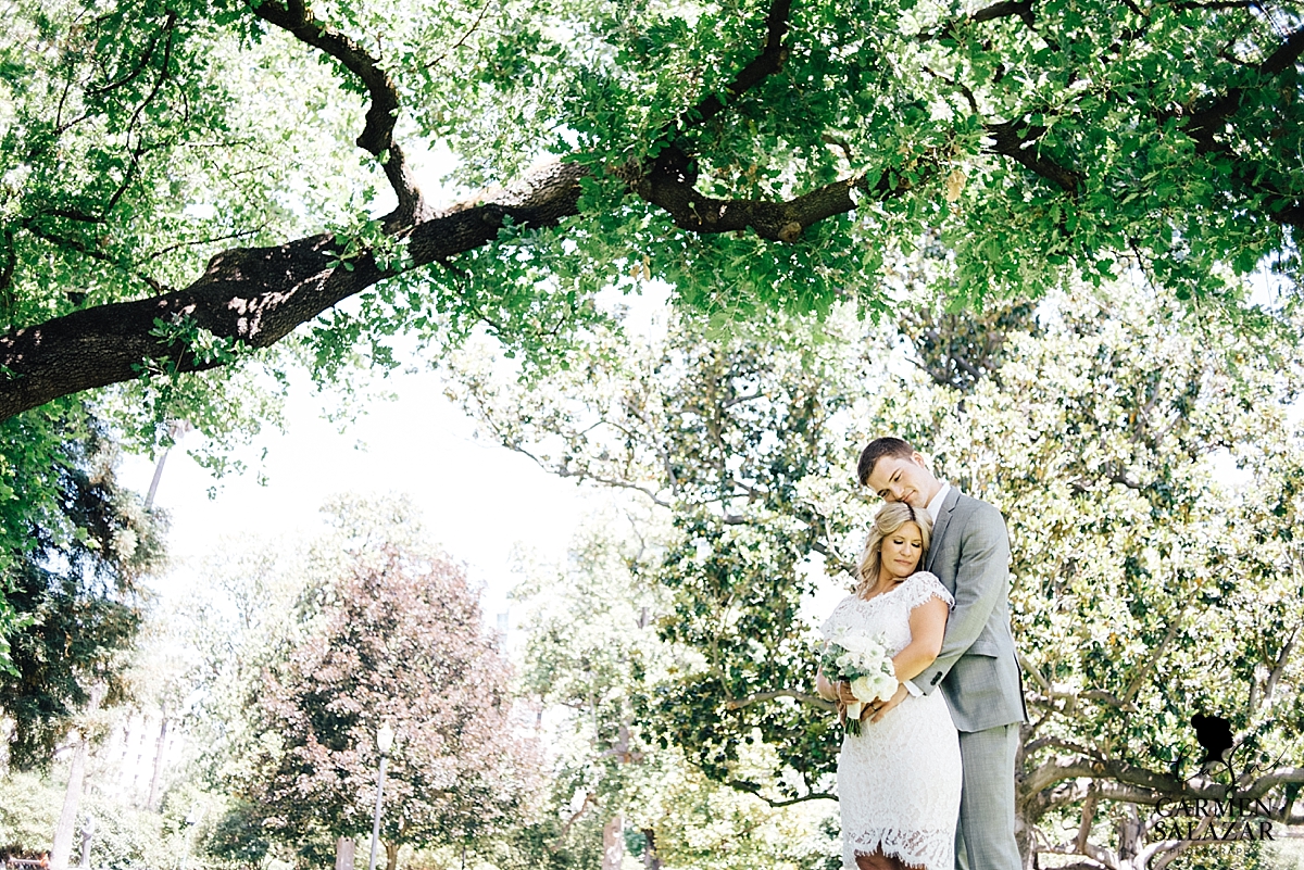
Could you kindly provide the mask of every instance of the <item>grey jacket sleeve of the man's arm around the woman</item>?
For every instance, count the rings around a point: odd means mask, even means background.
[[[996,508],[982,504],[965,520],[956,570],[956,606],[947,620],[938,658],[914,679],[919,689],[931,693],[960,656],[969,651],[1001,596],[1008,594],[1008,581],[1009,535],[1005,521]]]

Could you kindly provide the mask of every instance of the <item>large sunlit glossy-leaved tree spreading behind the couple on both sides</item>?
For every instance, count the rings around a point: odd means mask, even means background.
[[[1294,345],[1249,352],[1224,323],[1127,285],[948,318],[904,306],[904,335],[832,318],[823,341],[775,322],[709,343],[686,323],[639,354],[585,358],[556,392],[471,370],[458,395],[503,443],[640,490],[673,518],[649,572],[673,594],[657,625],[699,658],[660,682],[642,722],[712,778],[771,800],[827,788],[835,736],[810,698],[806,645],[832,590],[801,564],[823,557],[836,577],[854,560],[875,508],[855,456],[892,431],[1008,518],[1033,714],[1029,861],[1178,860],[1184,844],[1148,843],[1161,800],[1251,794],[1278,823],[1304,821],[1288,785],[1304,750],[1287,712],[1304,456]],[[1196,712],[1232,722],[1235,784],[1201,767]],[[775,765],[748,781],[754,733]]]

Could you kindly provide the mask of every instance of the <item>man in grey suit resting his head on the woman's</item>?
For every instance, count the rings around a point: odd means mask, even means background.
[[[928,694],[941,686],[960,731],[964,766],[956,862],[965,866],[968,857],[970,870],[1020,870],[1015,753],[1028,712],[1009,632],[1005,521],[992,505],[935,478],[923,457],[900,438],[870,442],[861,453],[858,475],[884,501],[905,501],[928,512],[932,543],[925,568],[956,598],[936,660],[897,686],[874,722],[908,692]]]

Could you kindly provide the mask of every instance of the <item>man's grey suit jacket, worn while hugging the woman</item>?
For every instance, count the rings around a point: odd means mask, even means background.
[[[927,569],[956,596],[936,660],[914,679],[938,685],[960,731],[1028,719],[1009,630],[1009,535],[1000,511],[953,488],[932,527]]]

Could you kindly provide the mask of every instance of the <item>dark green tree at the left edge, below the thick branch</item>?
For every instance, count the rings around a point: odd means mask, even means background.
[[[0,484],[0,710],[12,720],[9,763],[44,766],[93,685],[106,706],[123,699],[164,526],[119,486],[116,447],[81,406],[0,426],[0,466],[23,470]]]

